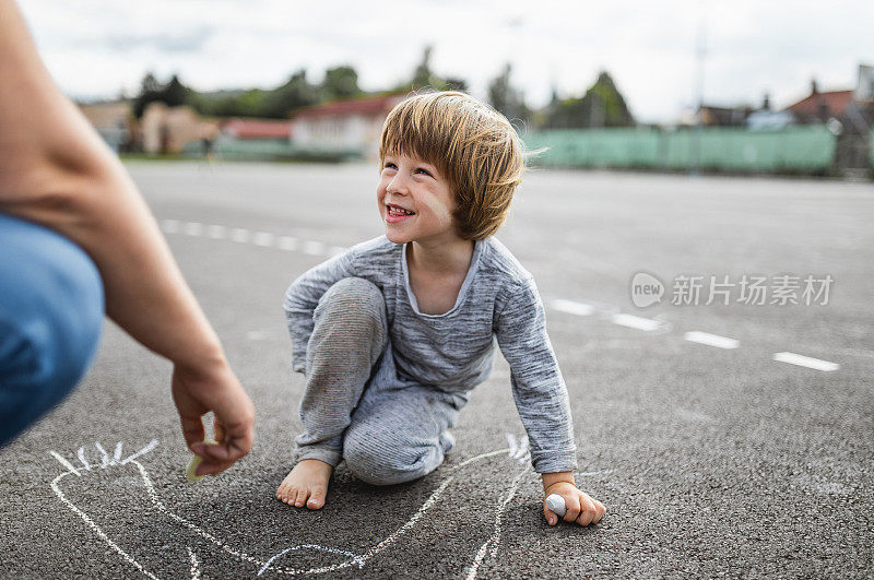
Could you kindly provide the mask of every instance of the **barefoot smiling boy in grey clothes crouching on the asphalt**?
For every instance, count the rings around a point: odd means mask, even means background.
[[[567,389],[538,288],[493,237],[524,171],[512,126],[465,93],[420,94],[389,114],[379,158],[386,235],[310,269],[285,295],[293,366],[307,382],[305,431],[276,497],[321,508],[341,460],[376,485],[434,471],[497,338],[544,497],[565,499],[566,521],[598,522],[604,506],[574,482]]]

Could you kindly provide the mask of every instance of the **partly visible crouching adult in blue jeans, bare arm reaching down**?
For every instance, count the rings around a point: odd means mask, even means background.
[[[11,0],[0,0],[0,446],[84,375],[105,306],[174,364],[198,474],[220,473],[251,450],[251,401],[137,187],[55,86]],[[217,446],[203,443],[210,411]]]

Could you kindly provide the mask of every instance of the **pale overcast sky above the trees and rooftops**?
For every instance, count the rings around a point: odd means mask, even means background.
[[[591,5],[587,5],[591,4]],[[200,91],[273,87],[306,68],[352,64],[365,90],[408,80],[425,45],[432,68],[485,96],[512,63],[529,105],[581,95],[607,70],[631,113],[671,121],[696,100],[706,31],[705,102],[781,108],[853,88],[874,64],[874,2],[772,0],[57,0],[20,1],[49,71],[78,98],[135,94],[147,70]]]

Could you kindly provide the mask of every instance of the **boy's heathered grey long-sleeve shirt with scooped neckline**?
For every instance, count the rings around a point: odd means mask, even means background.
[[[504,244],[495,237],[475,242],[456,305],[442,315],[418,311],[406,245],[386,236],[311,268],[288,287],[283,304],[294,370],[304,371],[319,298],[349,276],[368,280],[382,291],[394,363],[404,378],[444,391],[469,391],[488,378],[497,339],[510,365],[512,396],[534,470],[577,469],[567,388],[546,333],[543,303],[533,276]]]

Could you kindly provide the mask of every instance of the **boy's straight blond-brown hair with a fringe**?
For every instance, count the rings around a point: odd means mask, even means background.
[[[456,194],[463,239],[485,239],[504,224],[525,170],[523,145],[504,115],[460,91],[426,92],[389,113],[379,142],[387,155],[420,157]]]

